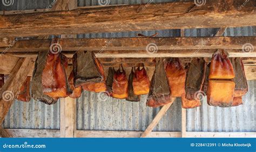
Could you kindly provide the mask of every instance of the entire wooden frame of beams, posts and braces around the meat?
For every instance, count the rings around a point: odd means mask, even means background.
[[[192,57],[211,60],[213,52],[225,49],[230,57],[242,57],[247,79],[256,79],[256,37],[223,37],[226,27],[256,26],[256,2],[242,0],[208,0],[203,6],[193,2],[156,3],[141,10],[140,5],[109,5],[77,7],[77,0],[59,0],[51,9],[0,11],[0,74],[8,74],[8,81],[0,90],[0,124],[9,111],[18,89],[26,76],[32,75],[37,53],[49,51],[49,35],[62,34],[59,44],[69,58],[77,50],[92,50],[107,67],[125,68],[144,63],[151,77],[154,57],[180,57],[183,64]],[[143,4],[142,4],[143,5]],[[47,20],[47,23],[42,22]],[[173,21],[175,20],[175,21]],[[207,21],[205,21],[207,20]],[[31,24],[32,23],[32,24]],[[185,37],[185,28],[219,28],[215,37]],[[124,32],[142,30],[180,29],[179,38],[102,38],[77,39],[76,34]],[[34,37],[34,38],[14,38]],[[15,41],[14,45],[8,44]],[[157,46],[155,53],[147,53],[149,44]],[[245,44],[252,50],[245,51]],[[8,48],[8,49],[7,49]],[[8,64],[6,64],[8,63]],[[70,73],[72,66],[69,62]],[[28,68],[29,67],[29,68]],[[2,99],[4,91],[14,98]],[[152,132],[169,110],[172,102],[161,107],[144,132],[136,131],[79,131],[76,129],[75,99],[60,99],[60,129],[4,129],[1,137],[255,137],[255,132],[187,132],[186,110],[181,112],[181,132]]]

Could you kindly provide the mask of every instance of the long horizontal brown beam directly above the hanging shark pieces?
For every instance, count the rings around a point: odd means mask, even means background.
[[[256,48],[256,37],[185,37],[185,38],[100,38],[100,39],[60,39],[62,51],[77,51],[77,50],[94,50],[99,52],[96,56],[107,54],[107,51],[125,52],[129,50],[142,50],[142,54],[156,55],[158,50],[167,50],[169,53],[174,50],[190,51],[189,55],[198,56],[204,53],[205,49],[240,49],[240,53],[250,54],[255,57],[256,51],[242,52],[242,47],[245,44],[251,44],[251,47]],[[31,45],[33,44],[33,45]],[[39,52],[49,51],[51,40],[19,40],[11,47],[11,52]],[[156,49],[147,50],[154,46]],[[1,47],[0,52],[4,52],[5,48]],[[146,51],[147,50],[147,51]],[[178,53],[176,52],[176,53]],[[193,54],[191,54],[191,52]],[[137,53],[137,52],[131,52]],[[187,52],[188,53],[188,52]],[[111,52],[111,54],[113,54]],[[132,56],[128,56],[132,57]],[[139,56],[140,57],[140,56]],[[181,56],[180,56],[181,57]]]

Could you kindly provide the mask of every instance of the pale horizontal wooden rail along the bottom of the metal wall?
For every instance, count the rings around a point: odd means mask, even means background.
[[[15,137],[60,137],[56,129],[5,129]],[[140,137],[138,131],[77,131],[77,137]],[[187,132],[187,137],[255,137],[256,132]],[[181,137],[181,132],[151,132],[147,137]]]

